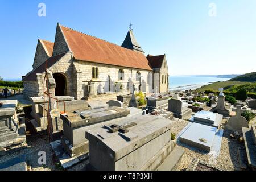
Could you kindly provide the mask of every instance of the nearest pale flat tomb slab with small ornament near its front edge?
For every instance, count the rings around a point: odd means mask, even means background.
[[[210,151],[213,144],[217,128],[199,123],[189,123],[187,130],[180,135],[180,142],[197,147],[205,151]]]

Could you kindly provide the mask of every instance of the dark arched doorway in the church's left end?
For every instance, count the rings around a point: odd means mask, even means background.
[[[65,96],[67,95],[66,78],[61,73],[53,73],[53,78],[56,82],[55,96]]]

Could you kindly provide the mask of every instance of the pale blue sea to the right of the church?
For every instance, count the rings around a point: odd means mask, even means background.
[[[170,76],[169,88],[170,91],[194,90],[201,88],[203,85],[208,85],[216,81],[227,81],[229,79],[213,76]]]

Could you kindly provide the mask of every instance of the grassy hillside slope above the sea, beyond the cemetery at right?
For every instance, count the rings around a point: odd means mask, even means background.
[[[218,91],[219,88],[231,87],[233,85],[244,85],[250,84],[250,82],[243,81],[218,81],[209,85],[201,86],[200,89],[197,89],[197,92],[204,92],[205,90],[214,90]]]

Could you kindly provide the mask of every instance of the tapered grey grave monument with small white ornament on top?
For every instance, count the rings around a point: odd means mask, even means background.
[[[220,94],[218,96],[218,101],[216,107],[213,107],[210,111],[217,112],[219,114],[224,115],[225,117],[229,117],[229,110],[225,104],[225,96],[223,94],[223,88],[219,89]]]

